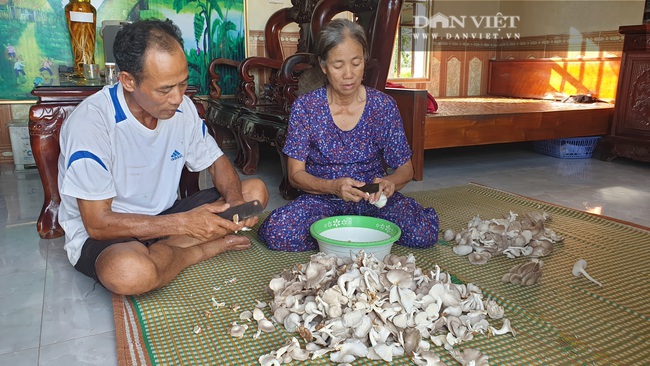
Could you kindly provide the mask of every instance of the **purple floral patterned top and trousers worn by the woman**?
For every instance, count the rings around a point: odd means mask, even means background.
[[[369,87],[361,118],[349,131],[334,123],[325,87],[299,97],[292,106],[282,151],[304,161],[306,171],[315,177],[350,177],[366,183],[386,175],[384,164],[397,169],[411,158],[395,101]],[[436,211],[399,192],[383,208],[365,200],[345,202],[335,195],[304,193],[274,210],[262,223],[258,236],[274,250],[317,249],[309,227],[317,220],[336,215],[364,215],[391,221],[402,230],[397,243],[408,247],[430,247],[438,239]]]

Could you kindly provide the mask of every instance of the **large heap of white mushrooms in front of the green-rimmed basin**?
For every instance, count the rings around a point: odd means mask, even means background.
[[[425,273],[412,255],[379,261],[364,252],[354,259],[318,253],[274,276],[268,290],[273,320],[307,343],[301,350],[292,339],[262,355],[262,365],[290,362],[294,354],[304,359],[304,351],[336,363],[406,355],[416,365],[444,365],[431,343],[462,365],[486,365],[480,351],[456,347],[479,333],[515,335],[507,319],[500,329],[490,326],[487,319],[502,318],[504,310],[477,286],[452,283],[438,266]]]

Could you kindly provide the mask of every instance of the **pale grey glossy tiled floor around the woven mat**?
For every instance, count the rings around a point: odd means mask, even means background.
[[[647,163],[556,159],[527,144],[431,151],[425,161],[425,179],[404,192],[477,182],[650,227]],[[284,204],[273,150],[260,165],[269,208]],[[116,364],[110,294],[70,266],[61,238],[39,239],[38,173],[12,168],[0,168],[0,365]]]

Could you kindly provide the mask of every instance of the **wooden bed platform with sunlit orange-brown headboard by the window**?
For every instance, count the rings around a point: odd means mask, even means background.
[[[583,80],[576,88],[578,79],[566,77],[572,84],[565,85],[571,86],[568,89],[571,94],[593,93],[602,99],[613,100],[619,63],[620,59],[562,60],[565,68],[567,65],[576,66],[583,76],[600,70],[596,73],[600,75],[599,81]],[[423,179],[425,150],[609,133],[614,104],[562,103],[542,99],[548,98],[549,93],[555,96],[569,94],[567,89],[558,90],[550,85],[549,80],[557,73],[557,65],[558,60],[546,59],[490,61],[488,91],[496,93],[498,90],[499,94],[507,97],[436,98],[439,108],[434,114],[426,114],[425,90],[387,88],[386,92],[400,109],[406,136],[413,149],[414,178]],[[585,90],[585,85],[591,82],[595,82],[597,88]],[[524,88],[525,85],[529,87]],[[526,98],[516,98],[517,95]],[[531,96],[539,99],[530,99]]]

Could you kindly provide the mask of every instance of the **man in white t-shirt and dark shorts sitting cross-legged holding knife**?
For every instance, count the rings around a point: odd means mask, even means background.
[[[80,272],[118,294],[169,283],[188,266],[250,247],[253,226],[217,216],[268,192],[240,181],[185,96],[189,73],[171,21],[124,24],[113,47],[119,83],[86,98],[60,134],[59,222]],[[183,166],[208,169],[215,188],[177,201]]]

